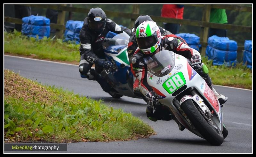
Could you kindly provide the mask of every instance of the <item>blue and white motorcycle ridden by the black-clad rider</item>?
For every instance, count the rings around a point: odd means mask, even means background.
[[[109,94],[114,98],[120,98],[122,96],[129,96],[133,98],[143,98],[147,101],[142,94],[133,93],[133,77],[128,53],[127,45],[130,36],[125,32],[121,34],[114,34],[109,32],[111,35],[107,35],[103,41],[103,50],[105,57],[110,61],[114,67],[109,66],[100,73],[104,77],[108,84],[111,86]],[[93,58],[87,58],[93,60]]]

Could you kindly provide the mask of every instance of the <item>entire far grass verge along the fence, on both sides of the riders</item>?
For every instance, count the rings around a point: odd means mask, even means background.
[[[78,64],[80,59],[79,46],[73,43],[62,42],[50,38],[36,40],[27,38],[20,32],[4,33],[4,53],[21,56],[33,56],[38,59],[71,62]],[[236,67],[213,66],[211,60],[202,57],[203,63],[209,69],[209,75],[214,85],[233,86],[252,89],[252,70],[243,66]]]

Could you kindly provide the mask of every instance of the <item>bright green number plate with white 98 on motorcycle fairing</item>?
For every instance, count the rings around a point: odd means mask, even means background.
[[[182,72],[178,72],[177,74],[167,79],[163,83],[163,87],[169,94],[172,94],[173,92],[175,92],[177,89],[179,89],[181,86],[185,84],[186,84],[186,80]]]

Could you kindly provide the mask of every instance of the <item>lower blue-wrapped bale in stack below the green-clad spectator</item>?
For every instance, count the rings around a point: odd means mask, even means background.
[[[237,51],[219,50],[208,45],[206,48],[206,56],[213,60],[213,65],[222,65],[224,62],[231,62],[232,64],[236,63]],[[231,64],[226,63],[227,66]]]

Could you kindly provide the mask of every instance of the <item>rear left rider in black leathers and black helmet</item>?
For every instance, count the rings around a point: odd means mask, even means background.
[[[110,61],[104,56],[102,44],[108,31],[120,34],[126,32],[131,34],[131,30],[126,27],[120,27],[111,19],[106,17],[101,8],[92,8],[84,19],[84,25],[80,30],[80,62],[79,72],[82,78],[96,80],[105,92],[110,92],[111,86],[100,76],[103,68],[113,67]],[[87,61],[87,62],[86,62]],[[95,70],[91,69],[95,64]]]

